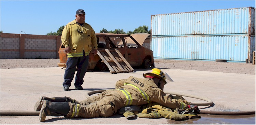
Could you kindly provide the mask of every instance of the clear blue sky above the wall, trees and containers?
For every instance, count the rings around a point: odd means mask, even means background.
[[[150,29],[151,15],[182,12],[255,7],[255,0],[211,1],[0,1],[0,30],[3,33],[45,35],[57,32],[60,26],[75,19],[75,12],[83,9],[85,22],[96,33],[123,29],[133,31],[146,25]],[[20,32],[23,31],[23,32]]]

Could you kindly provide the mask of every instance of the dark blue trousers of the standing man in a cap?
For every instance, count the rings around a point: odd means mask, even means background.
[[[89,63],[89,55],[83,57],[72,57],[67,60],[67,68],[64,74],[63,87],[71,86],[71,82],[75,75],[75,70],[77,66],[77,73],[75,76],[75,86],[81,86],[84,83],[84,75],[86,73]]]

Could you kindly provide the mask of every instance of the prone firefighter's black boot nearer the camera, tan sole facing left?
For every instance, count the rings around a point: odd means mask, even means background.
[[[70,106],[69,103],[66,102],[50,102],[45,100],[42,108],[39,112],[39,120],[40,122],[44,122],[47,115],[50,113],[57,113],[63,116],[67,116],[69,113]]]

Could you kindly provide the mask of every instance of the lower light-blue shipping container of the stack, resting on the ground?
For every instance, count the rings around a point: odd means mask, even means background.
[[[151,43],[154,58],[252,61],[255,51],[255,36],[152,37]]]

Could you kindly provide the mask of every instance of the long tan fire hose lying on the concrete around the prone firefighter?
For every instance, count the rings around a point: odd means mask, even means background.
[[[101,93],[109,89],[102,89],[102,90],[94,90],[86,93],[86,97],[88,98],[90,95]],[[197,106],[211,106],[213,104],[212,100],[208,99],[207,97],[199,97],[196,95],[191,94],[184,94],[184,93],[176,93],[176,92],[168,92],[165,91],[166,94],[172,94],[172,95],[180,95],[180,96],[186,96],[191,97],[199,100],[206,101],[204,103],[193,103],[193,105]],[[254,111],[207,111],[207,110],[200,110],[200,114],[215,114],[215,115],[249,115],[249,114],[255,114]],[[0,111],[0,115],[39,115],[39,111]],[[59,115],[52,113],[52,115]]]

